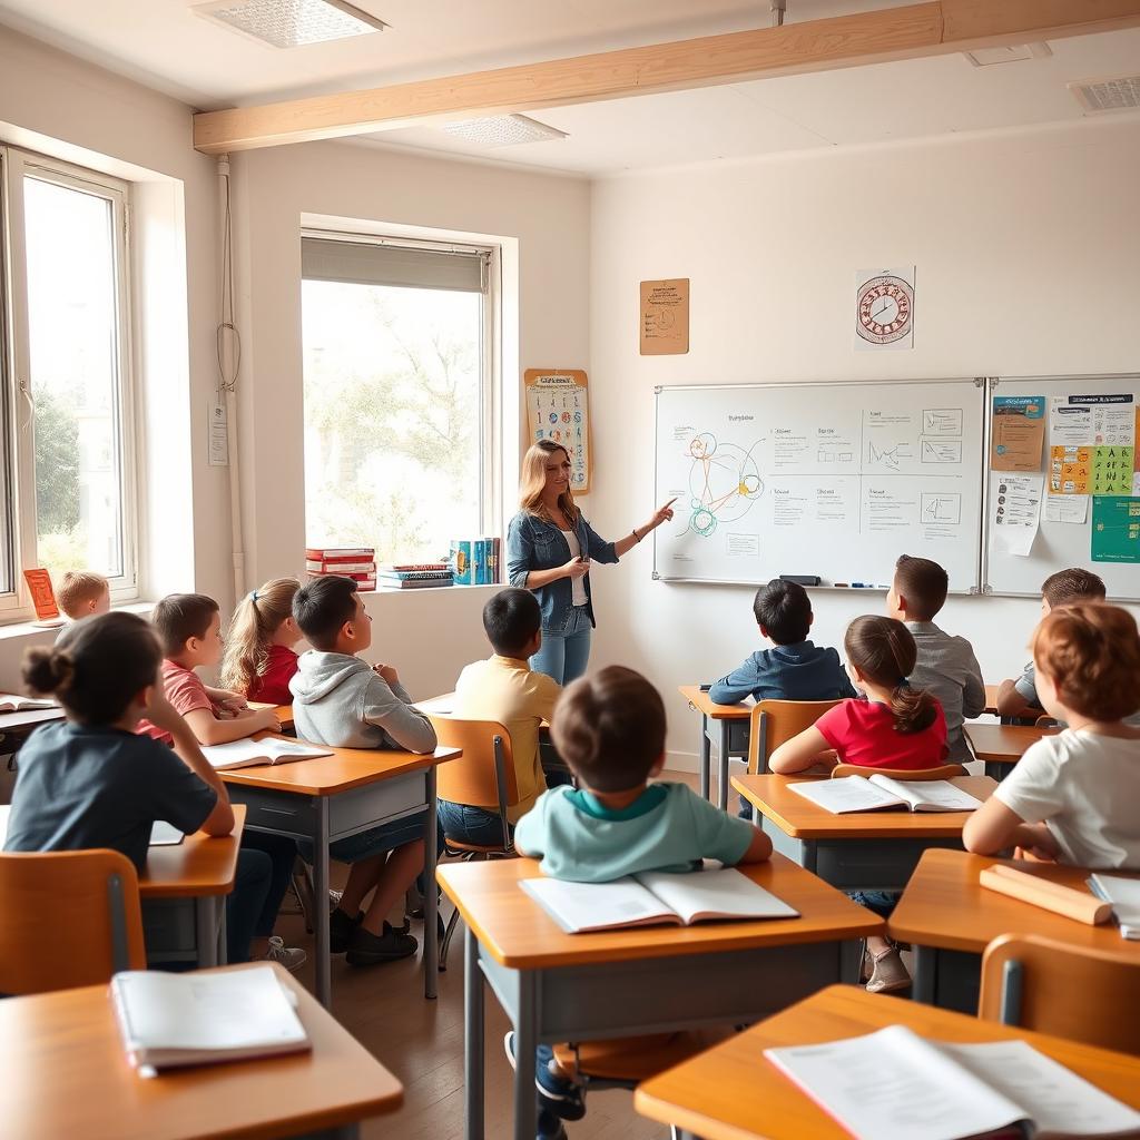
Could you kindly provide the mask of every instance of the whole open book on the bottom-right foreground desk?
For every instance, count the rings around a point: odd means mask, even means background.
[[[1140,1135],[1140,1113],[1024,1041],[930,1041],[902,1025],[764,1056],[857,1140]],[[889,1077],[889,1080],[888,1080]]]

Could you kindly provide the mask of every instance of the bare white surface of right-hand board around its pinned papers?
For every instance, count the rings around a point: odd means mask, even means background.
[[[1140,404],[1140,376],[1017,376],[990,382],[992,396],[1108,396],[1132,393]],[[990,401],[992,404],[992,401]],[[1042,474],[1047,474],[1050,439],[1047,429]],[[997,494],[1000,472],[990,473],[990,502]],[[988,514],[988,512],[987,512]],[[1084,567],[1105,579],[1108,596],[1119,601],[1140,601],[1140,564],[1092,561],[1092,502],[1084,523],[1049,522],[1042,508],[1041,526],[1028,557],[1018,557],[994,548],[995,528],[986,528],[983,583],[987,594],[1037,597],[1041,584],[1057,570]]]

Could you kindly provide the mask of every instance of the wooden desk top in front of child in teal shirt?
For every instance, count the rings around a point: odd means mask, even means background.
[[[800,912],[798,919],[702,922],[567,934],[520,886],[542,876],[531,858],[453,863],[437,878],[490,955],[512,969],[585,966],[630,959],[862,938],[879,933],[871,911],[782,855],[740,868],[754,882]]]

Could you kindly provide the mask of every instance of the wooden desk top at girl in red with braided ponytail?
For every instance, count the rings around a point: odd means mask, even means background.
[[[869,769],[873,773],[873,769]],[[849,812],[836,815],[791,790],[804,776],[733,776],[744,799],[793,839],[953,839],[969,812]],[[997,782],[990,776],[954,776],[951,783],[977,799],[988,799]]]

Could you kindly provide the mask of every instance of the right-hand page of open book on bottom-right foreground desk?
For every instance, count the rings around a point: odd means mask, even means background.
[[[1025,1041],[978,1045],[939,1042],[939,1048],[1010,1100],[1024,1105],[1037,1132],[1093,1137],[1140,1129],[1140,1113]]]

